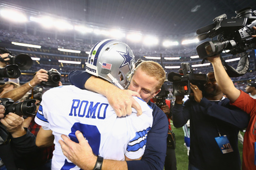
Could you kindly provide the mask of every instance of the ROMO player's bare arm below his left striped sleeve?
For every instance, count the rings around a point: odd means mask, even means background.
[[[41,127],[36,136],[36,146],[38,147],[52,146],[53,141],[54,141],[54,136],[52,135],[52,130],[44,130]]]

